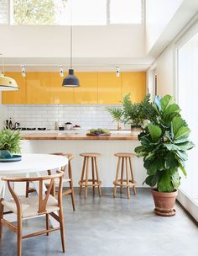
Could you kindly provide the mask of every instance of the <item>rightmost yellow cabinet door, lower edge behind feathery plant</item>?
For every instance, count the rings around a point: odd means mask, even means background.
[[[131,93],[133,102],[140,102],[146,94],[146,72],[122,72],[122,97]]]

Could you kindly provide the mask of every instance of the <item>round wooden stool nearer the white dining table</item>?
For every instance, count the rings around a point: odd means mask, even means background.
[[[85,187],[85,198],[87,198],[87,189],[88,187],[93,188],[93,195],[95,194],[95,187],[98,187],[98,194],[99,196],[102,195],[101,190],[101,180],[99,179],[98,175],[98,167],[96,162],[96,157],[99,157],[101,154],[99,153],[81,153],[80,156],[84,157],[83,166],[82,166],[82,173],[81,173],[81,180],[79,181],[79,195],[81,195],[81,189],[82,187]],[[89,160],[91,158],[91,170],[92,170],[92,179],[88,179],[88,173],[89,173]],[[86,172],[86,178],[84,179],[84,174]],[[95,178],[95,172],[96,172],[96,178]]]

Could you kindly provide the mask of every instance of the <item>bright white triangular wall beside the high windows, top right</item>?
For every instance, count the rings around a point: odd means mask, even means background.
[[[146,52],[151,50],[183,0],[146,1]]]

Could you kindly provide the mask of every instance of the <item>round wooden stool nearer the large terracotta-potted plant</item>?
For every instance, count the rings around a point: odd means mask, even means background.
[[[118,157],[118,162],[117,162],[116,179],[113,182],[114,184],[113,197],[116,196],[117,186],[119,186],[121,194],[122,194],[122,188],[127,188],[127,194],[129,199],[130,187],[133,187],[133,194],[136,195],[136,182],[134,181],[134,177],[133,177],[133,168],[132,168],[132,160],[131,160],[131,158],[136,157],[136,155],[133,153],[116,153],[114,154],[114,156]],[[122,160],[121,176],[120,176],[120,179],[118,179],[121,160]],[[124,162],[125,162],[126,179],[123,179]],[[129,163],[129,170],[128,170],[128,163]]]

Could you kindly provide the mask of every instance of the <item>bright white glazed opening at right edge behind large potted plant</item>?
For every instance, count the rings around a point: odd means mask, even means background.
[[[189,152],[188,177],[182,179],[181,189],[198,201],[198,32],[180,47],[178,68],[179,104],[191,130],[190,139],[196,146]]]

